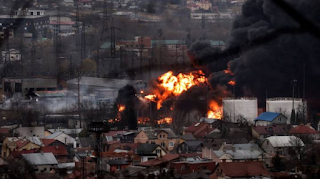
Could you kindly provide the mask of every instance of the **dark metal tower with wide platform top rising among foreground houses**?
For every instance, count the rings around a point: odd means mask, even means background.
[[[103,150],[101,134],[109,132],[109,127],[106,122],[92,122],[88,125],[88,131],[95,133],[96,138],[96,176],[97,179],[102,179],[102,170],[101,170],[101,152]]]

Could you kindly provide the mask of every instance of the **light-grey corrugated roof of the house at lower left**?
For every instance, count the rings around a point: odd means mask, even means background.
[[[52,153],[22,154],[31,165],[57,165],[58,161]]]

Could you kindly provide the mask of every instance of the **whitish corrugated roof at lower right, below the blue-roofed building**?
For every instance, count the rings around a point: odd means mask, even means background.
[[[271,136],[265,141],[269,141],[273,147],[304,146],[302,140],[295,136]]]

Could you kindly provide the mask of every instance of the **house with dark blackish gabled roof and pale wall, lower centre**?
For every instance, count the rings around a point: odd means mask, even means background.
[[[136,154],[141,157],[141,162],[146,162],[164,156],[167,152],[160,145],[145,143],[139,144]]]

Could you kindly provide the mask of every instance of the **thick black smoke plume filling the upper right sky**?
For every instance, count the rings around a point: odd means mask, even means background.
[[[285,2],[319,27],[320,1]],[[220,52],[195,43],[190,49],[193,62],[208,69],[212,86],[235,79],[237,96],[256,96],[261,104],[266,96],[292,96],[294,79],[295,96],[302,97],[305,69],[306,97],[319,97],[320,40],[292,16],[272,0],[248,0],[234,21],[228,47]],[[223,71],[228,68],[233,75]]]

